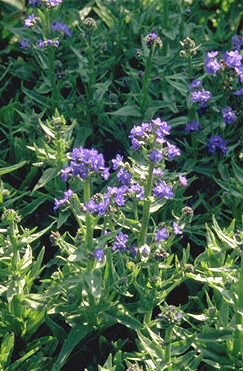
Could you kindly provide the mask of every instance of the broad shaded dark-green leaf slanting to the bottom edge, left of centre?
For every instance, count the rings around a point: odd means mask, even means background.
[[[69,332],[51,371],[60,371],[61,368],[66,364],[68,357],[70,356],[76,345],[78,345],[81,340],[84,340],[84,338],[92,331],[92,327],[82,324],[73,327],[72,330]]]

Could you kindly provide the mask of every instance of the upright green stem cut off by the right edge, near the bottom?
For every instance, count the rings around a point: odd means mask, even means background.
[[[241,329],[243,325],[243,254],[241,254],[241,265],[240,265],[240,279],[238,285],[238,301],[235,314],[235,336],[233,345],[233,356],[237,357],[238,354],[243,356],[243,331]]]

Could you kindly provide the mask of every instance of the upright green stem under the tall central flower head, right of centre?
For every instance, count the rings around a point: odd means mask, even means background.
[[[144,189],[144,205],[143,205],[143,216],[142,216],[142,225],[141,225],[141,231],[140,231],[140,238],[139,238],[139,244],[140,246],[144,245],[147,238],[147,229],[148,229],[148,223],[149,223],[149,217],[150,217],[150,196],[152,192],[152,184],[153,184],[153,170],[154,170],[154,163],[151,161],[149,165],[149,172],[148,172],[148,178],[147,182],[145,184]]]

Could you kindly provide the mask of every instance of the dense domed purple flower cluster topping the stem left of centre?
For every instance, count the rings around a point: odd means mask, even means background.
[[[97,172],[101,173],[105,180],[109,178],[109,168],[105,167],[104,157],[96,149],[74,148],[71,157],[69,166],[61,170],[64,182],[67,181],[69,175],[87,179],[91,173]]]

